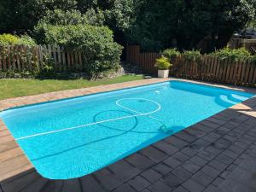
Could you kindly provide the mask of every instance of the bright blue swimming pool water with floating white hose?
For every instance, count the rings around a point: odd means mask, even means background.
[[[252,96],[170,81],[9,109],[0,118],[43,177],[67,179],[95,172]]]

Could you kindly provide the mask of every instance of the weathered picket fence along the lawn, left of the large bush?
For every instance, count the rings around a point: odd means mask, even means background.
[[[0,47],[0,71],[30,71],[34,65],[39,68],[52,63],[56,72],[81,71],[82,54],[68,52],[55,45],[38,45],[34,47],[10,45]]]

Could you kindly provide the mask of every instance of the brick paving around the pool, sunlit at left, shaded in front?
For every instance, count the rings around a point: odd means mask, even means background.
[[[162,80],[148,79],[9,99],[0,101],[0,108]],[[0,121],[0,192],[253,192],[256,191],[255,183],[256,97],[166,137],[100,171],[69,180],[41,177]]]

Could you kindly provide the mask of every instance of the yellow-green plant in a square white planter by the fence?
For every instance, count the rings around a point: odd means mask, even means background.
[[[155,61],[154,67],[158,68],[158,77],[159,78],[168,78],[169,77],[169,68],[172,66],[170,61],[165,57],[161,56]]]

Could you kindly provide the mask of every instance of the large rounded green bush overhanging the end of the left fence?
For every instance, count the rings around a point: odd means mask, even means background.
[[[119,66],[122,47],[113,42],[113,32],[107,26],[47,26],[44,36],[46,44],[81,51],[84,72],[91,77]]]

